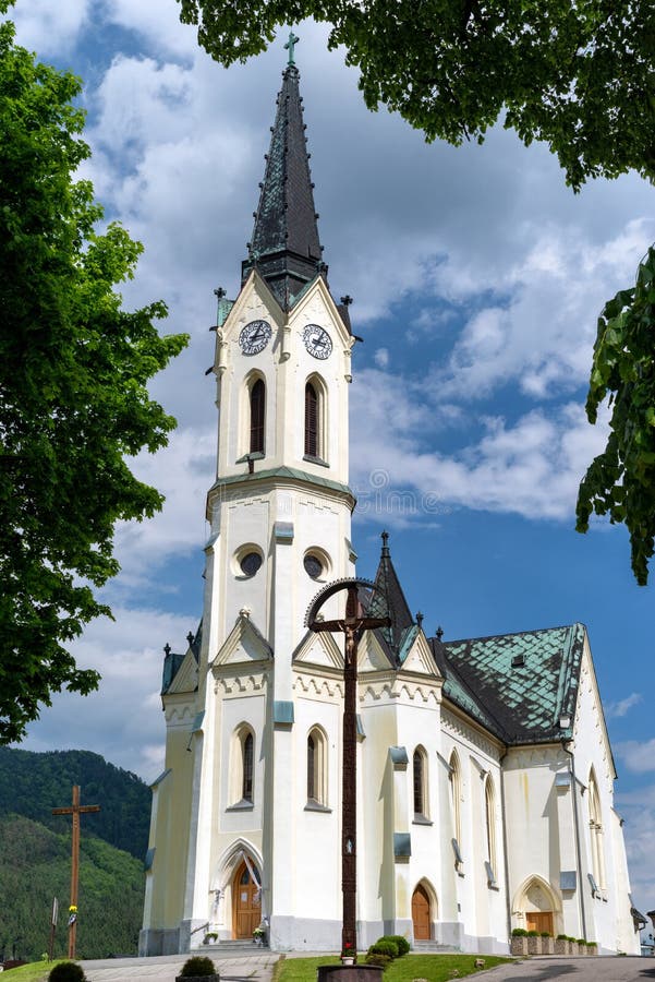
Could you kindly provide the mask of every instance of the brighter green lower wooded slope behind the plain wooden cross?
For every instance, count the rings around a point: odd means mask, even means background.
[[[60,900],[54,955],[66,950],[71,834],[19,815],[0,815],[0,953],[15,942],[23,958],[48,949],[52,898]],[[77,955],[136,954],[143,914],[143,863],[83,831],[80,843]]]

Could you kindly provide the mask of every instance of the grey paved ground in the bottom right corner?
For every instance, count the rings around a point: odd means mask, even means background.
[[[499,965],[481,978],[484,982],[648,982],[655,980],[655,958],[537,957]]]

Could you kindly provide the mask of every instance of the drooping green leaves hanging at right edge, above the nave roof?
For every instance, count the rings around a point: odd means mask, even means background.
[[[655,541],[655,247],[640,263],[635,286],[619,290],[598,318],[590,422],[607,396],[610,434],[580,486],[577,527],[586,531],[592,513],[624,522],[632,570],[643,586]]]

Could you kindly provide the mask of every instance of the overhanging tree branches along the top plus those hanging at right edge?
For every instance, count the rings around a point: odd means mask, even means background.
[[[265,50],[277,27],[331,24],[360,69],[366,106],[400,115],[428,141],[482,143],[499,118],[544,141],[566,181],[635,170],[655,180],[655,19],[651,0],[179,0],[180,17],[220,63]],[[598,321],[587,416],[615,394],[611,433],[581,483],[579,531],[592,512],[624,522],[640,584],[655,534],[653,250],[634,289]]]

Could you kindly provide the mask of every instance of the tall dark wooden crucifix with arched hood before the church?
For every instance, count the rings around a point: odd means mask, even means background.
[[[356,963],[357,953],[357,640],[362,632],[374,627],[388,627],[388,616],[368,616],[368,611],[360,600],[360,590],[381,595],[367,579],[342,579],[325,587],[312,602],[307,611],[306,624],[311,631],[330,631],[343,634],[343,759],[341,768],[342,818],[341,818],[341,890],[343,893],[343,925],[341,929],[341,950],[352,953]],[[336,621],[323,621],[318,611],[325,601],[341,590],[347,590],[345,616]],[[379,600],[376,598],[376,609]],[[385,603],[386,608],[386,603]]]

